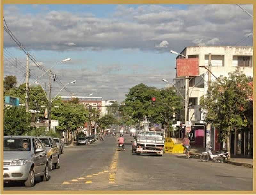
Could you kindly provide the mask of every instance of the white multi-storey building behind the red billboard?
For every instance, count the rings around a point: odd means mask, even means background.
[[[204,123],[203,110],[200,109],[200,97],[207,94],[209,53],[211,53],[211,81],[219,76],[228,76],[228,73],[240,69],[246,76],[253,77],[253,47],[248,46],[190,46],[186,47],[180,54],[187,58],[199,59],[199,73],[200,76],[190,78],[188,87],[189,103],[191,108],[187,114],[187,119],[191,119],[194,129],[192,136],[194,141],[198,140],[198,144],[204,144],[206,128]],[[177,56],[184,58],[183,56]],[[213,76],[214,75],[214,76]],[[177,69],[176,69],[177,76]],[[180,90],[180,93],[185,97],[185,79],[176,77],[175,86]],[[179,93],[177,92],[179,95]],[[184,110],[180,113],[183,117],[177,116],[177,120],[182,120],[184,124]],[[193,127],[192,126],[192,127]],[[198,131],[197,131],[198,130]],[[200,131],[199,131],[200,130]],[[200,139],[199,139],[200,137]],[[215,148],[217,143],[215,129],[211,129],[210,139],[212,146]],[[200,140],[200,141],[199,141]],[[203,143],[202,143],[203,142]]]

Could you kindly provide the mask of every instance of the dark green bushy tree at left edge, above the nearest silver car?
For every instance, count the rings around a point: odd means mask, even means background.
[[[4,107],[4,136],[23,135],[30,130],[31,114],[24,106]]]

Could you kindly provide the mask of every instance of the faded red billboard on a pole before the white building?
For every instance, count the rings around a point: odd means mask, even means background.
[[[177,77],[199,76],[198,58],[183,58],[176,60]]]

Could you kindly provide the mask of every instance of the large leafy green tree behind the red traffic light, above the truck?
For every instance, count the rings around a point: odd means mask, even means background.
[[[126,119],[135,122],[147,118],[153,123],[164,124],[168,131],[172,128],[174,113],[182,107],[173,88],[158,90],[141,83],[132,87],[126,97],[122,108]],[[152,97],[156,98],[155,105],[152,105]]]

